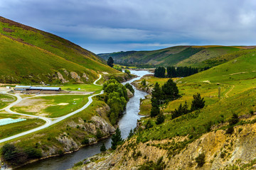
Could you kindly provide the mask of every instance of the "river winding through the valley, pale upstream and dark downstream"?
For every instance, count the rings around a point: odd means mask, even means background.
[[[131,74],[137,75],[138,77],[126,81],[122,84],[132,83],[137,79],[140,79],[145,74],[150,74],[148,71],[135,71],[130,70]],[[140,98],[144,98],[146,96],[146,92],[139,91],[135,89],[134,86],[134,96],[129,99],[127,103],[126,111],[124,111],[124,115],[119,120],[119,128],[121,130],[122,138],[125,139],[129,135],[129,131],[134,129],[137,125],[137,120],[141,118],[139,113],[139,103]],[[72,154],[65,154],[60,157],[51,157],[48,159],[43,159],[38,162],[34,162],[32,164],[27,164],[19,168],[18,170],[63,170],[63,169],[70,169],[73,165],[77,162],[86,159],[87,157],[92,157],[95,154],[100,153],[100,146],[102,143],[105,143],[107,148],[111,147],[111,138],[106,140],[102,140],[95,145],[90,145],[87,147],[82,147],[78,150],[78,152],[73,152]]]

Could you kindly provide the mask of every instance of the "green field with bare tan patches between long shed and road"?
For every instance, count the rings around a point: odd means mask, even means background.
[[[26,106],[14,106],[11,110],[18,113],[58,118],[82,108],[82,106],[87,103],[88,96],[89,95],[59,95],[28,98],[24,102],[30,104]],[[31,103],[31,101],[35,100],[36,103]]]

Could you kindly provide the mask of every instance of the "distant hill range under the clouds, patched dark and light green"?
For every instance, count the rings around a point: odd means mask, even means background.
[[[152,51],[127,51],[99,54],[104,60],[109,57],[118,64],[149,64],[153,66],[206,67],[214,65],[208,60],[252,47],[235,46],[175,46]],[[235,55],[234,55],[235,56]],[[207,61],[207,62],[206,62]],[[218,62],[215,62],[218,64]]]

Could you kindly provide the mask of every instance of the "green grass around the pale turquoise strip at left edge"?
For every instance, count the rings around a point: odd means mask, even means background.
[[[21,118],[20,115],[12,115],[12,114],[5,114],[0,113],[0,119],[1,118]],[[24,117],[22,117],[24,118]],[[20,132],[25,132],[27,130],[31,130],[33,128],[37,128],[45,123],[44,120],[41,119],[31,119],[27,118],[25,121],[19,122],[19,123],[11,123],[9,125],[1,125],[0,126],[0,139],[4,139],[6,137],[10,137],[12,135],[16,135]]]

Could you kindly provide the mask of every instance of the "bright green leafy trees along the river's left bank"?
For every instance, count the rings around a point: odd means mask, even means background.
[[[117,118],[122,115],[127,101],[129,100],[127,96],[127,89],[125,86],[120,84],[116,79],[111,78],[105,84],[103,84],[103,90],[107,94],[105,96],[105,101],[110,106],[110,113],[108,117],[112,125],[117,123]]]

